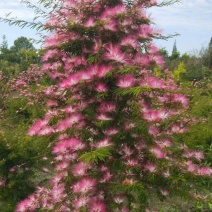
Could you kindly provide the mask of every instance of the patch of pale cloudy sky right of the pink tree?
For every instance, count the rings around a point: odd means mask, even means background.
[[[152,8],[150,13],[163,34],[180,34],[174,39],[181,52],[208,45],[212,36],[212,0],[181,0],[169,7]],[[171,52],[174,39],[158,43]]]

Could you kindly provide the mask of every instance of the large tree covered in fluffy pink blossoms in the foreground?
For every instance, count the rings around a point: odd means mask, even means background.
[[[45,2],[45,1],[40,1]],[[162,4],[163,5],[163,4]],[[152,43],[160,32],[146,9],[156,0],[61,0],[45,28],[42,70],[51,113],[30,136],[51,136],[54,175],[21,201],[24,211],[148,211],[148,198],[192,196],[201,151],[175,136],[187,131],[189,100],[163,69]]]

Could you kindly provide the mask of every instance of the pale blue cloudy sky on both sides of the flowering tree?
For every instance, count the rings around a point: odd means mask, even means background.
[[[29,0],[36,3],[38,0]],[[0,17],[5,17],[11,12],[11,17],[18,19],[32,20],[35,16],[33,10],[20,3],[21,0],[0,0]],[[181,0],[172,6],[154,7],[148,13],[151,15],[155,27],[162,30],[162,34],[180,34],[174,38],[156,40],[158,47],[165,47],[171,53],[174,41],[177,49],[182,54],[194,53],[202,47],[207,47],[212,37],[212,0]],[[0,38],[6,35],[9,46],[20,36],[39,40],[36,30],[29,28],[19,28],[0,23]],[[1,42],[1,39],[0,39]],[[35,45],[39,48],[39,45]]]

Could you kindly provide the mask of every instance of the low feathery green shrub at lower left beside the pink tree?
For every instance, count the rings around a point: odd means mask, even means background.
[[[0,201],[4,211],[9,212],[34,191],[34,170],[45,165],[42,158],[49,155],[49,139],[27,136],[28,125],[22,116],[5,115],[0,122],[0,176],[5,181],[0,187]]]

